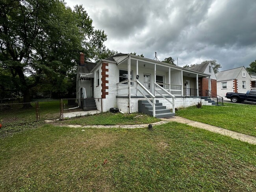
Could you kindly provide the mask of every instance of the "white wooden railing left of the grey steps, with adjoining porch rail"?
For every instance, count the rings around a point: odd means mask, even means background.
[[[130,80],[132,83],[136,83],[136,87],[131,87],[131,89],[136,89],[136,95],[137,95],[137,92],[139,91],[142,96],[150,103],[150,105],[153,107],[153,116],[156,116],[156,97],[146,88],[144,87],[139,81],[136,81],[136,80]],[[118,96],[127,96],[127,93],[123,93],[123,94],[119,94],[119,91],[120,90],[125,90],[127,89],[128,90],[128,85],[125,84],[126,86],[122,86],[122,88],[119,88],[119,85],[121,84],[124,84],[128,82],[128,80],[125,80],[125,81],[122,81],[122,82],[119,82],[117,83],[117,95]],[[149,96],[150,98],[152,99],[152,102],[150,101],[150,99],[143,93],[142,90],[139,89],[142,88]]]

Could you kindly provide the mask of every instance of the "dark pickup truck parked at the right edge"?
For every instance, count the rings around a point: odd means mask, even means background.
[[[256,102],[256,90],[247,90],[246,93],[227,92],[226,98],[233,103],[238,102]]]

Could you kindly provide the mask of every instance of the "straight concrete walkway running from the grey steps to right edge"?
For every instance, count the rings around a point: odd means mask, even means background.
[[[219,133],[221,135],[226,135],[244,142],[248,142],[250,144],[254,144],[256,145],[256,137],[250,136],[250,135],[245,135],[243,133],[237,133],[235,131],[230,131],[228,129],[223,129],[220,127],[215,127],[215,126],[210,126],[208,124],[204,124],[204,123],[200,123],[200,122],[196,122],[196,121],[192,121],[186,118],[182,118],[182,117],[178,117],[178,116],[174,116],[171,118],[162,118],[161,120],[164,121],[174,121],[174,122],[179,122],[179,123],[183,123],[183,124],[187,124],[189,126],[193,126],[193,127],[198,127],[200,129],[205,129],[214,133]]]

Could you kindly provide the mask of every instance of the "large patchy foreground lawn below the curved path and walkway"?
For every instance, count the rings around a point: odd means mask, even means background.
[[[256,191],[256,146],[170,122],[0,138],[1,191]]]

